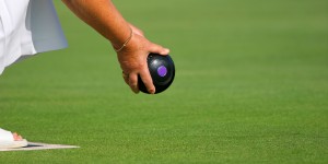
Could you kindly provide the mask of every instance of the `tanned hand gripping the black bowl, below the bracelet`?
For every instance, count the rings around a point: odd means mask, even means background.
[[[117,52],[125,82],[134,93],[139,93],[138,75],[140,75],[148,92],[151,94],[155,93],[155,86],[153,85],[147,63],[147,58],[150,52],[167,55],[169,49],[153,44],[142,35],[133,33],[132,38],[127,46]]]

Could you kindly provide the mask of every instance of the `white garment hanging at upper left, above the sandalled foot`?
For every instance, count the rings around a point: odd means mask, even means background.
[[[0,74],[23,56],[65,47],[52,0],[0,0]]]

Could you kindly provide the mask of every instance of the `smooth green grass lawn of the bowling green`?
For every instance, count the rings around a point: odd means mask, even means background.
[[[109,44],[55,2],[70,47],[4,71],[0,127],[81,148],[0,163],[328,163],[327,0],[114,2],[171,48],[173,85],[132,94]]]

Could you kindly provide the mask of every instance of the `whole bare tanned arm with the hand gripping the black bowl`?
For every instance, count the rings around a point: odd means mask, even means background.
[[[120,51],[117,52],[122,71],[127,74],[126,83],[134,93],[139,92],[138,75],[150,93],[155,92],[151,75],[148,71],[147,57],[150,52],[167,55],[168,49],[148,40],[141,31],[129,24],[115,8],[110,0],[62,0],[68,8],[82,21],[107,38],[115,49],[132,37]]]

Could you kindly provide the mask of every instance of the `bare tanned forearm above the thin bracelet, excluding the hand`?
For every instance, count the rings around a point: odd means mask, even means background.
[[[129,23],[110,0],[62,0],[82,21],[119,48],[130,36]]]

